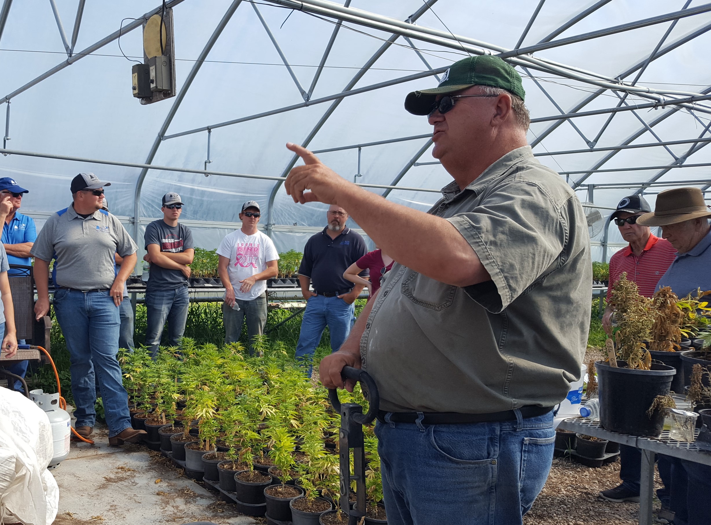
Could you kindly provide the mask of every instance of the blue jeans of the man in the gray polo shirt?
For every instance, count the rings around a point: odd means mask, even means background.
[[[130,428],[128,394],[116,359],[121,324],[119,307],[114,305],[109,291],[57,290],[54,311],[69,350],[76,426],[96,423],[95,378],[98,377],[109,437]]]

